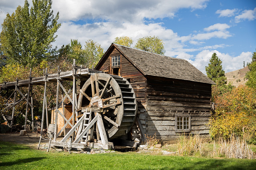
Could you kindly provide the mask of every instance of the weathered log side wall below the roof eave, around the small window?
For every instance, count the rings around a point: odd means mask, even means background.
[[[209,134],[211,84],[153,76],[147,83],[147,135],[166,143],[184,132]],[[189,129],[178,130],[177,117],[188,117]]]

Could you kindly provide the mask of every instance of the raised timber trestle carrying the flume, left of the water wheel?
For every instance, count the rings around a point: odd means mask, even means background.
[[[46,122],[47,122],[46,124],[47,124],[47,128],[48,128],[48,112],[47,112],[48,109],[47,109],[47,99],[46,99],[46,84],[56,83],[57,84],[57,90],[56,90],[56,110],[55,110],[55,112],[57,112],[59,114],[57,114],[57,113],[55,114],[56,117],[55,117],[55,128],[54,128],[54,142],[57,143],[56,138],[61,134],[61,132],[64,130],[64,128],[68,124],[72,127],[72,129],[74,129],[74,130],[70,131],[70,133],[72,132],[73,135],[69,134],[69,135],[73,136],[73,141],[74,141],[74,132],[77,130],[77,126],[78,126],[79,123],[77,125],[75,125],[75,121],[72,121],[73,122],[72,124],[70,123],[70,121],[72,119],[75,120],[75,117],[78,116],[77,115],[77,98],[76,98],[76,95],[77,95],[76,94],[76,80],[77,79],[87,80],[88,78],[90,78],[91,75],[93,75],[95,73],[101,73],[101,71],[76,66],[75,60],[73,61],[72,70],[70,70],[70,71],[62,72],[62,71],[60,71],[60,68],[58,66],[58,72],[57,73],[48,74],[47,68],[46,68],[46,70],[44,71],[44,76],[40,76],[40,77],[31,77],[31,71],[32,71],[32,69],[30,69],[30,77],[26,80],[18,80],[17,79],[15,82],[4,82],[3,84],[0,84],[1,90],[10,90],[10,89],[14,90],[12,92],[12,94],[8,97],[8,99],[6,100],[6,104],[5,104],[6,107],[0,111],[0,116],[2,116],[4,118],[4,120],[6,120],[6,117],[4,116],[4,112],[6,112],[6,111],[8,111],[9,109],[12,108],[12,121],[11,121],[10,125],[8,123],[8,126],[11,127],[11,129],[12,129],[15,106],[17,106],[21,101],[26,100],[26,102],[27,102],[26,115],[24,115],[24,117],[25,117],[24,130],[26,130],[26,123],[30,122],[28,120],[28,114],[27,114],[28,113],[28,106],[30,106],[32,108],[31,109],[32,110],[32,121],[34,121],[34,113],[33,113],[34,107],[33,107],[32,87],[33,86],[38,86],[38,85],[39,86],[44,86],[44,99],[43,99],[43,109],[42,109],[42,125],[43,125],[43,122],[44,122],[44,115],[45,115],[45,112],[46,112]],[[64,82],[64,81],[73,81],[73,86],[68,90],[68,92],[62,86],[62,82]],[[22,94],[22,92],[20,91],[20,87],[28,87],[28,93],[27,94]],[[62,98],[62,100],[60,102],[58,100],[59,87],[62,90],[62,94],[63,94],[63,92],[65,93],[65,96]],[[70,92],[71,91],[72,91],[72,99],[70,97]],[[22,96],[22,98],[20,98],[18,100],[16,99],[17,92],[20,93],[20,95]],[[10,98],[12,98],[13,95],[14,95],[14,97],[13,97],[14,102],[10,103],[9,102]],[[31,98],[31,102],[29,101],[30,98]],[[70,119],[66,119],[66,117],[58,110],[58,108],[60,106],[63,106],[63,102],[66,98],[68,98],[70,100],[71,104],[73,105],[73,107],[72,107],[73,108],[72,109],[73,115],[70,117]],[[66,121],[66,124],[60,130],[60,132],[57,132],[58,115],[62,116]],[[98,121],[98,122],[102,121],[102,119],[99,121],[101,116],[96,115],[94,118],[95,119],[97,118],[96,121]],[[82,120],[82,119],[80,119],[80,120]],[[91,121],[91,122],[93,123],[93,121]],[[43,126],[41,126],[41,137],[42,137],[42,132],[43,132]],[[40,140],[41,140],[41,138],[40,138]],[[64,140],[62,140],[62,142],[63,141]],[[53,142],[53,145],[54,145],[54,142]],[[59,143],[58,145],[60,145],[60,144],[61,143]],[[74,145],[74,147],[75,147],[75,145]]]

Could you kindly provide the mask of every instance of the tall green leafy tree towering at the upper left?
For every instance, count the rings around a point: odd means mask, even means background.
[[[0,43],[3,54],[24,66],[34,66],[51,57],[55,49],[51,43],[60,23],[59,12],[54,17],[52,0],[28,0],[18,6],[12,15],[7,14],[2,24]]]

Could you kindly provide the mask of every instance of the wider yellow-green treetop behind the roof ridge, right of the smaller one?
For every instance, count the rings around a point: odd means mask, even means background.
[[[138,39],[135,48],[161,55],[165,53],[164,42],[158,36],[146,36]]]

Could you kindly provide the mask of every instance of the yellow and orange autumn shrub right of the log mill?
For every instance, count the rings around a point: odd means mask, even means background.
[[[228,139],[232,133],[248,141],[256,136],[256,90],[245,85],[217,96],[215,114],[210,119],[212,138]]]

